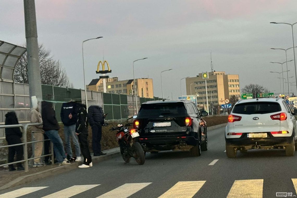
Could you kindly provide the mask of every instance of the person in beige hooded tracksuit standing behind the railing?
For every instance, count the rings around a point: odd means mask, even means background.
[[[32,98],[32,109],[30,110],[31,115],[31,123],[42,123],[41,114],[39,112],[38,101],[35,98]],[[44,140],[44,131],[42,129],[42,125],[31,126],[31,131],[33,134],[33,138],[35,141]],[[38,157],[42,155],[43,142],[35,142],[34,143],[34,157]],[[41,167],[45,164],[41,161],[41,158],[34,159],[33,167]]]

